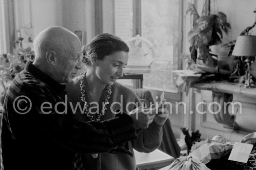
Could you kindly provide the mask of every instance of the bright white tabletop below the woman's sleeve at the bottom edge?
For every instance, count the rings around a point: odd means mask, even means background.
[[[156,149],[150,153],[141,153],[134,150],[136,165],[139,170],[157,170],[171,164],[175,158]]]

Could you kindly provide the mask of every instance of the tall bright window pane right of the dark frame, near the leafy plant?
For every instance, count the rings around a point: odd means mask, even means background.
[[[142,37],[153,44],[155,53],[143,86],[175,90],[171,70],[178,67],[179,4],[179,0],[141,0]]]

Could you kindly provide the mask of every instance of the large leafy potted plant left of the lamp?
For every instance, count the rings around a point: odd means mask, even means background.
[[[202,59],[203,63],[216,66],[216,55],[211,53],[209,46],[222,43],[222,31],[228,33],[230,24],[224,13],[218,12],[210,15],[199,16],[195,6],[189,4],[187,14],[190,13],[193,28],[189,31],[190,55],[196,63],[196,58]],[[214,57],[215,56],[215,57]]]

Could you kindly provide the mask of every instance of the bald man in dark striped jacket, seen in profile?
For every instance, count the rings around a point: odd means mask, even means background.
[[[74,120],[61,83],[71,82],[82,67],[79,38],[49,27],[35,38],[34,51],[34,63],[14,78],[4,101],[1,170],[73,170],[82,168],[74,162],[77,152],[127,152],[119,145],[137,137],[127,114],[103,122]]]

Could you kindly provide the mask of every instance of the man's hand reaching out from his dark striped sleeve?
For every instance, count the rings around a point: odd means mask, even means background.
[[[155,112],[155,109],[137,107],[133,111],[129,112],[128,115],[133,119],[136,129],[146,129],[148,128],[148,125],[153,122]]]

